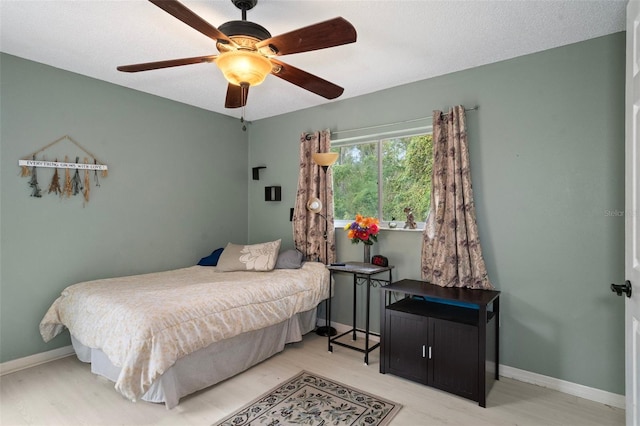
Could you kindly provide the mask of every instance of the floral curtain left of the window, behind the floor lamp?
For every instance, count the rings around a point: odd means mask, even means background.
[[[300,136],[300,174],[293,213],[293,239],[296,248],[305,255],[306,259],[325,264],[335,262],[336,258],[333,179],[331,167],[325,173],[313,162],[311,155],[315,152],[329,152],[330,149],[329,130],[303,133]],[[319,214],[307,210],[307,201],[313,197],[322,201],[322,212]]]

